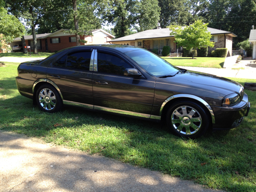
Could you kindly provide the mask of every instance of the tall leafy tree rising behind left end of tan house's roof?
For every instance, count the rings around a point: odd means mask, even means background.
[[[115,0],[101,17],[114,25],[116,38],[128,35],[131,28],[137,31],[157,26],[160,8],[157,0]]]

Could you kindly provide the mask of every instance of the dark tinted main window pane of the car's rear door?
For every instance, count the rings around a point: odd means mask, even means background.
[[[83,51],[68,55],[66,68],[89,70],[91,54],[91,51]]]

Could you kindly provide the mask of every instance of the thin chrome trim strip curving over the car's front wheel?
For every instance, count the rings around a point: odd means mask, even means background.
[[[190,95],[190,94],[177,94],[177,95],[173,95],[173,96],[168,97],[163,102],[163,104],[160,108],[160,114],[159,115],[162,116],[163,108],[164,108],[164,106],[166,105],[167,102],[169,102],[170,100],[172,100],[174,98],[180,98],[180,97],[186,97],[186,98],[192,98],[192,99],[198,100],[200,103],[202,103],[204,106],[206,106],[207,109],[209,110],[211,116],[212,116],[212,123],[215,124],[215,116],[214,116],[214,113],[213,113],[213,110],[212,110],[211,106],[205,100],[203,100],[202,98],[200,98],[198,96],[195,96],[195,95]]]

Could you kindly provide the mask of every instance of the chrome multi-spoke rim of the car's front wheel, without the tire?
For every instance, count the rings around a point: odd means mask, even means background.
[[[202,118],[197,110],[190,106],[180,106],[172,113],[172,125],[181,134],[191,135],[202,126]]]

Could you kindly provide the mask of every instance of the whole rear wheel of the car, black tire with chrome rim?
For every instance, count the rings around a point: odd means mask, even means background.
[[[60,94],[49,84],[44,84],[36,91],[36,103],[40,110],[48,113],[55,113],[62,109],[63,101]]]

